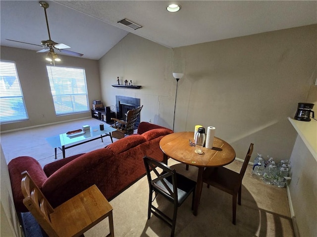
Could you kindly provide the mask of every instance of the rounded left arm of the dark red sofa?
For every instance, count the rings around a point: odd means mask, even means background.
[[[8,163],[11,180],[13,200],[17,212],[27,212],[28,209],[23,204],[23,194],[21,190],[21,180],[23,171],[28,171],[35,184],[41,189],[43,183],[48,179],[40,163],[32,157],[17,157]]]

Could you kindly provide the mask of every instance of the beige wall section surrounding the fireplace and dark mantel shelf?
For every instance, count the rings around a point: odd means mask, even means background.
[[[141,121],[171,127],[176,80],[171,78],[173,51],[150,40],[128,34],[100,59],[102,100],[115,106],[115,96],[140,98]],[[141,89],[114,88],[117,77],[132,80]]]

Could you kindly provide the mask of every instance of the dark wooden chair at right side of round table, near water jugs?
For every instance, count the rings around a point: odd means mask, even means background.
[[[244,173],[253,152],[253,143],[250,144],[247,156],[243,162],[240,173],[227,169],[223,166],[206,168],[203,173],[203,182],[232,195],[232,223],[236,224],[237,196],[238,204],[241,205],[241,186]]]

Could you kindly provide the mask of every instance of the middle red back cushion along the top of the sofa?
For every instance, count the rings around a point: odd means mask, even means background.
[[[117,155],[133,147],[136,147],[144,142],[146,142],[146,139],[143,136],[136,134],[117,140],[114,143],[108,145],[106,149],[111,150],[114,153],[114,155]]]

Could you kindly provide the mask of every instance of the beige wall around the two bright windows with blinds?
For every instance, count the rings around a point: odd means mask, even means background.
[[[1,124],[1,131],[19,129],[91,117],[91,112],[76,115],[56,116],[50,82],[46,71],[45,53],[1,46],[1,60],[14,61],[20,79],[29,119]],[[89,102],[101,98],[99,66],[97,60],[60,55],[59,66],[85,68]]]

